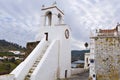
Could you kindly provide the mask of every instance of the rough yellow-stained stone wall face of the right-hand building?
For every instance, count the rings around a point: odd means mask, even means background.
[[[118,37],[95,39],[97,80],[120,80],[120,41]]]

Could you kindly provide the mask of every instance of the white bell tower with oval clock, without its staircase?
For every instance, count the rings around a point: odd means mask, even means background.
[[[71,76],[71,30],[64,23],[64,13],[56,5],[50,7],[43,6],[41,9],[41,26],[38,40],[46,35],[49,43],[54,40],[59,41],[58,53],[58,78]],[[52,58],[52,57],[51,57]],[[52,63],[52,62],[51,62]],[[52,65],[52,64],[51,64]]]

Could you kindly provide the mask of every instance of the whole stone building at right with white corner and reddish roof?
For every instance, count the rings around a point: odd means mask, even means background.
[[[114,29],[100,29],[90,39],[89,78],[120,80],[120,24]]]

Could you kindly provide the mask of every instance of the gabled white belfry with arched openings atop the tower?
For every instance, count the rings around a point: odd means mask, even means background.
[[[50,7],[43,5],[41,10],[41,26],[64,24],[64,13],[55,4]]]

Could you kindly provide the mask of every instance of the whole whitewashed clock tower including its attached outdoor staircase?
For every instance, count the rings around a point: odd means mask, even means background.
[[[39,44],[30,55],[6,75],[6,80],[57,80],[71,76],[71,31],[64,13],[56,5],[43,6]],[[5,76],[0,77],[5,80]]]

